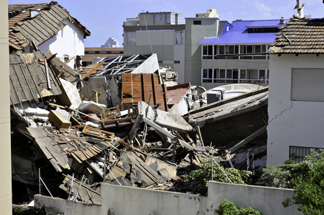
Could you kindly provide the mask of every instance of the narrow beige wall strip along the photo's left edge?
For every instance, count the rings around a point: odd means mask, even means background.
[[[0,211],[12,214],[8,1],[0,1]]]

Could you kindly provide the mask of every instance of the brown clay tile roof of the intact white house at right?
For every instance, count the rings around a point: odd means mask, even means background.
[[[282,27],[272,43],[269,54],[324,53],[324,19],[293,16]]]

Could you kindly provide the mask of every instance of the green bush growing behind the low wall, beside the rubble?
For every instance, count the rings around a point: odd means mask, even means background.
[[[217,163],[219,163],[219,161],[217,161]],[[217,164],[214,163],[214,175],[212,179],[212,159],[206,159],[205,161],[201,161],[201,169],[190,172],[188,177],[185,178],[185,182],[190,183],[192,181],[196,181],[197,183],[199,183],[199,185],[195,185],[193,192],[206,194],[208,181],[210,180],[225,183],[230,183],[230,181],[232,181],[233,183],[245,184],[248,177],[250,177],[250,175],[252,174],[252,172],[245,170],[224,168],[220,164],[219,166],[217,166]],[[225,174],[227,174],[227,177],[230,180],[226,177],[223,171],[225,172]]]

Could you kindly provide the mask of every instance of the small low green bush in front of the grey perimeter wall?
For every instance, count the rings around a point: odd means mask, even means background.
[[[247,206],[238,208],[232,201],[224,199],[219,203],[219,209],[214,210],[218,215],[262,215],[258,210]]]

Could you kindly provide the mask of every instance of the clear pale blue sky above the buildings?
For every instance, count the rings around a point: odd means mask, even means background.
[[[9,4],[44,3],[46,0],[8,0]],[[216,9],[221,21],[236,19],[261,20],[289,19],[296,13],[296,0],[57,0],[70,15],[88,28],[91,36],[85,40],[85,47],[101,47],[110,37],[123,44],[123,22],[135,18],[140,12],[176,12],[186,17],[196,16],[196,12]],[[324,17],[323,0],[303,0],[304,14],[312,18]]]

